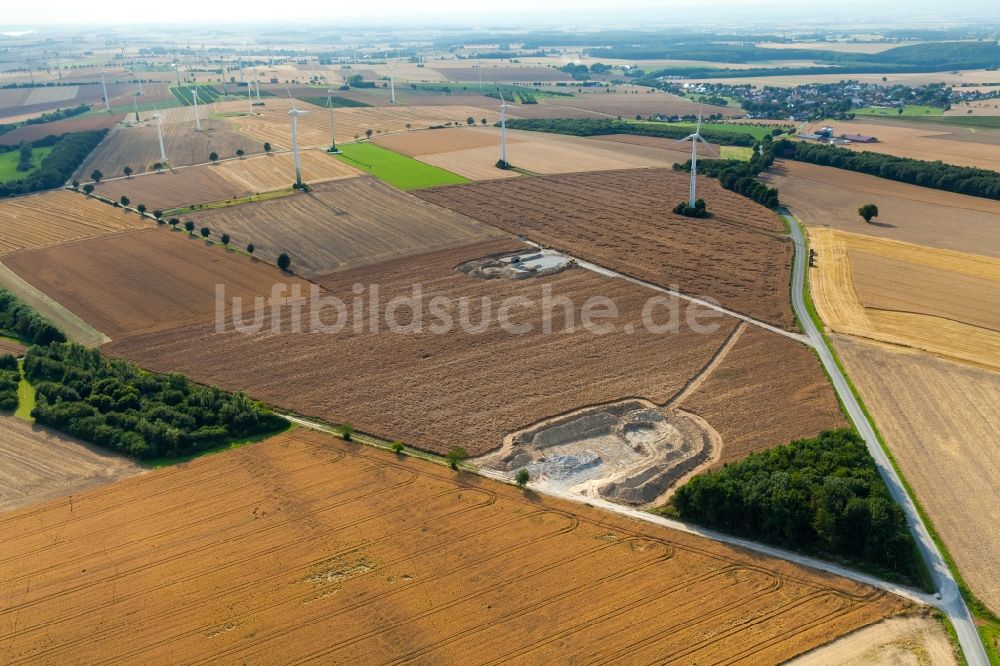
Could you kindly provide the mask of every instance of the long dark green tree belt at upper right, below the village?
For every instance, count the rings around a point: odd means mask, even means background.
[[[776,157],[858,171],[948,192],[1000,199],[1000,173],[988,169],[927,162],[873,151],[855,152],[826,144],[788,139],[774,143],[774,154]]]

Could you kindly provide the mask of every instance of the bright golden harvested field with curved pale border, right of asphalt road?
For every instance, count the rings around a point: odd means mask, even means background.
[[[831,330],[1000,368],[1000,260],[825,228],[809,238]]]

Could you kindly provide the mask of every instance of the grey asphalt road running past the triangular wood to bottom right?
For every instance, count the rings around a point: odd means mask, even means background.
[[[952,576],[951,570],[948,569],[944,558],[941,557],[937,544],[931,539],[924,521],[920,518],[920,514],[917,513],[916,506],[903,487],[903,482],[900,480],[899,475],[896,474],[896,470],[889,461],[889,457],[882,450],[878,437],[875,435],[875,429],[872,428],[868,417],[861,410],[861,406],[858,404],[857,399],[855,399],[854,393],[847,385],[847,380],[834,360],[830,348],[827,347],[826,340],[823,339],[823,335],[816,328],[816,324],[813,323],[812,318],[809,316],[803,296],[805,292],[808,257],[806,256],[806,245],[802,237],[802,229],[799,227],[798,220],[791,213],[784,209],[780,212],[781,216],[788,222],[788,226],[792,231],[792,241],[795,243],[795,254],[792,260],[792,305],[795,308],[795,314],[798,316],[806,335],[809,336],[810,343],[816,349],[816,353],[819,354],[820,361],[822,361],[823,367],[829,373],[833,387],[844,403],[844,407],[854,422],[854,426],[868,445],[868,451],[875,459],[879,474],[882,475],[885,484],[889,487],[889,492],[892,494],[893,499],[903,507],[903,512],[906,514],[906,521],[910,524],[910,531],[917,541],[917,546],[920,549],[921,556],[924,558],[924,562],[930,568],[931,576],[934,579],[934,586],[938,591],[936,595],[938,600],[935,605],[948,615],[948,619],[954,625],[955,632],[958,634],[958,641],[962,646],[962,652],[965,654],[965,659],[968,661],[969,666],[989,666],[989,661],[986,658],[986,650],[983,649],[983,644],[979,639],[979,632],[976,631],[972,615],[965,606],[962,595],[959,594],[958,585]],[[822,261],[822,257],[820,257],[820,261]],[[958,483],[960,481],[958,479],[951,479],[950,481],[943,480],[942,482]]]

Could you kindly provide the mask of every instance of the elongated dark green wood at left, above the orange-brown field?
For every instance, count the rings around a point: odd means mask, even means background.
[[[287,421],[243,393],[146,372],[71,342],[28,350],[38,423],[136,458],[200,453],[274,432]]]

